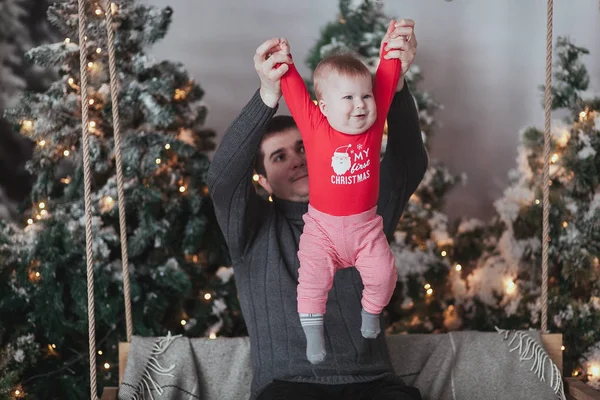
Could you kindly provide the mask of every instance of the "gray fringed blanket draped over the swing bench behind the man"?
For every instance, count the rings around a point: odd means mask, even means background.
[[[423,400],[565,400],[536,331],[390,335],[396,374]],[[246,400],[248,338],[134,337],[119,399]]]

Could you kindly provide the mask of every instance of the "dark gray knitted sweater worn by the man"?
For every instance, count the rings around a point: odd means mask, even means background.
[[[360,275],[336,273],[327,300],[324,362],[306,359],[297,312],[298,241],[307,203],[268,202],[252,183],[253,160],[276,108],[257,91],[226,131],[208,172],[208,186],[225,235],[252,354],[252,395],[273,380],[325,384],[365,382],[393,374],[385,335],[364,339]],[[381,162],[377,212],[391,238],[408,199],[427,168],[415,103],[407,88],[396,93],[388,114],[388,142]]]

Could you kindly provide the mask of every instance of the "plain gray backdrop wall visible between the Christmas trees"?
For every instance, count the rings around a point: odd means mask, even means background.
[[[515,166],[518,133],[543,128],[545,0],[381,0],[391,16],[416,21],[421,87],[444,105],[431,154],[468,182],[446,211],[488,217]],[[173,25],[152,54],[183,62],[206,90],[207,125],[221,135],[258,88],[252,55],[265,39],[285,36],[303,60],[337,0],[150,0],[170,5]],[[587,47],[590,91],[600,94],[600,4],[555,0],[554,36]],[[304,76],[310,71],[299,65]],[[283,102],[281,103],[283,105]],[[280,112],[287,112],[285,106]],[[556,115],[556,118],[559,116]]]

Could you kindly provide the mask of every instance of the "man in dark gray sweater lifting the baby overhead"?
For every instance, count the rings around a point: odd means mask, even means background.
[[[403,36],[388,44],[394,49],[390,55],[402,62],[402,76],[388,114],[377,206],[388,238],[427,168],[418,114],[403,78],[416,53],[414,22],[401,22]],[[281,98],[279,79],[291,63],[278,51],[279,43],[271,39],[256,50],[260,90],[223,136],[208,172],[250,335],[251,399],[419,400],[418,390],[394,375],[385,335],[364,339],[360,333],[363,285],[355,268],[339,271],[329,292],[325,360],[312,365],[306,358],[296,288],[308,174],[293,120],[273,118]],[[273,202],[255,192],[254,165]]]

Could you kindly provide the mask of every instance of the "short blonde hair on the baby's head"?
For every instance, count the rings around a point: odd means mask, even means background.
[[[323,83],[331,75],[337,73],[348,78],[366,77],[371,73],[365,64],[352,54],[333,54],[322,59],[313,71],[313,84],[317,100],[323,96]]]

